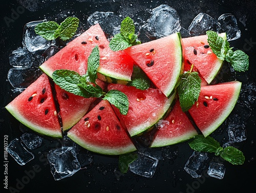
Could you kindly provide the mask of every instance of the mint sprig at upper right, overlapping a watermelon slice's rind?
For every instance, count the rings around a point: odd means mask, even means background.
[[[214,52],[219,59],[229,62],[235,71],[245,72],[248,70],[249,56],[247,54],[241,50],[233,51],[233,48],[229,47],[229,42],[214,31],[207,31],[206,34],[212,52]]]

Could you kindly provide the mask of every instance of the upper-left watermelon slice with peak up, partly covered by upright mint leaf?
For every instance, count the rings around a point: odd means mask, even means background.
[[[134,61],[124,51],[114,52],[99,24],[91,26],[86,32],[68,43],[39,68],[52,77],[55,70],[76,71],[80,75],[87,71],[87,60],[95,46],[99,47],[100,67],[98,78],[108,82],[131,81]]]

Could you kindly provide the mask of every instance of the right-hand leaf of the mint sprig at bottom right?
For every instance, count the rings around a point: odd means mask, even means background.
[[[243,152],[232,146],[225,147],[221,157],[233,165],[242,165],[245,161]]]

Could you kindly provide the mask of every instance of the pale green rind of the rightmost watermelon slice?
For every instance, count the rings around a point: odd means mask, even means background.
[[[210,135],[212,132],[214,132],[215,130],[217,130],[217,128],[227,119],[227,117],[230,115],[230,113],[232,112],[232,110],[234,109],[234,106],[237,104],[237,100],[238,97],[240,95],[240,91],[241,91],[241,87],[242,87],[242,82],[237,81],[236,83],[236,89],[234,91],[234,94],[232,96],[232,98],[229,100],[229,103],[227,104],[227,107],[222,114],[219,115],[219,118],[216,119],[214,122],[211,123],[210,126],[208,126],[207,128],[205,128],[204,131],[202,131],[203,135],[206,137],[208,135]]]

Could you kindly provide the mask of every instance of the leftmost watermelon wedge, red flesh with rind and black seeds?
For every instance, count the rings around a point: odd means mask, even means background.
[[[42,74],[11,101],[6,109],[18,121],[35,132],[62,137],[50,82],[46,74]]]

